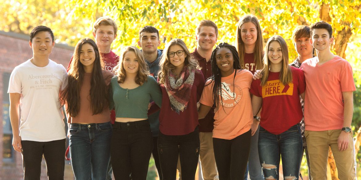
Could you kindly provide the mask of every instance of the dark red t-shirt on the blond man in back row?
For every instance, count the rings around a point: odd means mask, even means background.
[[[99,53],[100,58],[104,61],[104,69],[108,71],[113,71],[113,68],[117,66],[119,62],[119,56],[116,55],[112,50],[110,50],[109,53]],[[73,56],[70,59],[68,68],[66,71],[69,71],[71,61],[73,61]],[[115,111],[110,111],[110,119],[112,119],[112,124],[114,124],[115,121]]]

